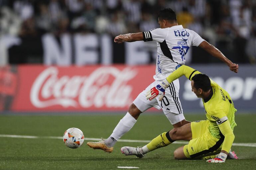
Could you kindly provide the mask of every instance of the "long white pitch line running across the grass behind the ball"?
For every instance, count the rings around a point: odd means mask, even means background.
[[[26,135],[12,135],[12,134],[0,134],[0,137],[14,137],[14,138],[30,138],[30,139],[38,139],[38,138],[45,138],[45,139],[63,139],[62,136],[26,136]],[[84,140],[95,140],[99,141],[101,138],[84,138]],[[149,143],[151,140],[129,140],[129,139],[119,139],[119,142],[135,142],[135,143]],[[188,144],[189,142],[186,141],[175,141],[173,143],[176,144]],[[256,147],[256,143],[233,143],[233,146],[249,146],[249,147]]]

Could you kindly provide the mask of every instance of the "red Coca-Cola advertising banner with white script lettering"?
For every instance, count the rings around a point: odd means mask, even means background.
[[[0,104],[3,107],[0,110],[127,110],[137,95],[154,81],[154,74],[154,65],[22,65],[17,66],[15,72],[9,67],[1,68]],[[5,106],[6,96],[9,98],[8,107]]]

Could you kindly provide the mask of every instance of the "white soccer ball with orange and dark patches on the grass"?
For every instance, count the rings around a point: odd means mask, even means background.
[[[69,128],[64,132],[63,141],[69,148],[78,148],[84,141],[83,132],[78,128]]]

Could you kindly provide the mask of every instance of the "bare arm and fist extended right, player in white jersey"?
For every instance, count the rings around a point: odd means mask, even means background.
[[[203,48],[205,51],[207,51],[208,53],[210,53],[212,56],[218,58],[219,60],[223,61],[224,63],[226,63],[229,66],[229,69],[231,71],[234,71],[235,73],[238,72],[238,64],[234,64],[232,63],[227,57],[225,57],[224,54],[222,54],[222,52],[220,50],[218,50],[215,46],[209,44],[206,41],[203,41],[199,44],[199,47]]]

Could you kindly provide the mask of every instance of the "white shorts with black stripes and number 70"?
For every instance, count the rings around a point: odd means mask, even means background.
[[[165,96],[162,101],[159,101],[157,96],[152,101],[146,99],[146,93],[156,85],[160,84],[161,81],[154,81],[151,83],[143,92],[141,92],[137,98],[133,101],[133,104],[141,111],[144,112],[152,107],[163,110],[166,117],[169,119],[171,124],[176,124],[185,119],[181,102],[179,99],[180,84],[179,79],[173,81],[170,86],[165,90]]]

